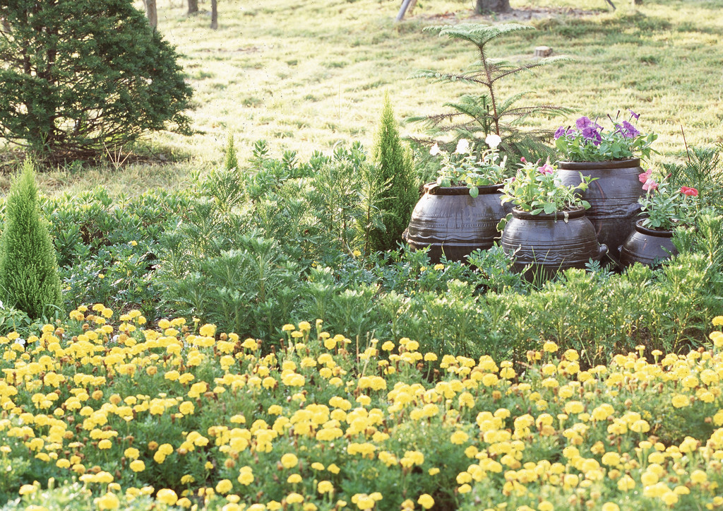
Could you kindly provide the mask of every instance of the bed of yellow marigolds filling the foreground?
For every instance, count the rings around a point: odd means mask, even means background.
[[[723,507],[723,334],[687,355],[513,365],[286,325],[281,349],[103,305],[0,337],[0,491],[79,481],[231,510]],[[723,324],[723,316],[714,318]],[[20,463],[22,460],[25,462]],[[23,470],[20,470],[22,465]]]

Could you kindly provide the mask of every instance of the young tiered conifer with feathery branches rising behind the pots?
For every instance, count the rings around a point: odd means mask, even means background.
[[[452,133],[454,141],[460,138],[486,138],[495,134],[502,138],[500,150],[512,155],[531,156],[544,154],[546,149],[542,143],[552,137],[547,130],[521,130],[530,116],[555,116],[569,113],[570,109],[550,104],[518,106],[521,98],[529,92],[513,93],[508,98],[500,97],[500,80],[517,75],[523,71],[531,71],[538,67],[560,62],[564,57],[549,57],[526,64],[517,64],[502,59],[489,57],[487,45],[504,35],[521,30],[532,29],[529,25],[504,23],[500,25],[440,25],[428,27],[426,30],[438,32],[440,36],[458,41],[466,41],[475,46],[479,59],[468,70],[461,73],[442,73],[431,70],[418,72],[416,77],[443,83],[470,84],[482,89],[478,94],[463,94],[455,102],[445,103],[453,111],[435,114],[428,117],[414,117],[410,120],[424,121],[429,133],[438,137]],[[531,159],[531,158],[530,158]]]

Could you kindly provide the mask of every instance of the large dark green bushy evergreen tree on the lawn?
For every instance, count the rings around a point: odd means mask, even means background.
[[[178,55],[131,0],[0,7],[0,127],[54,161],[91,159],[174,124],[191,97]]]

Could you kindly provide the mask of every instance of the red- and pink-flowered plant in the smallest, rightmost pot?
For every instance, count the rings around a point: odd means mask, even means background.
[[[641,215],[646,216],[641,222],[643,227],[672,231],[693,224],[698,211],[698,190],[688,186],[674,190],[666,180],[656,182],[652,174],[653,170],[648,169],[639,176],[646,190],[640,200]]]

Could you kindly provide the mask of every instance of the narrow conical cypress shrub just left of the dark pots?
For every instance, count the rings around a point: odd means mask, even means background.
[[[409,223],[411,211],[419,200],[419,191],[411,151],[401,143],[389,96],[384,98],[372,157],[376,166],[374,179],[380,185],[388,182],[388,187],[382,191],[377,203],[385,230],[372,229],[370,246],[372,250],[392,250]]]

